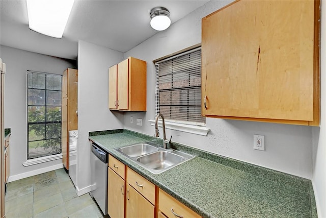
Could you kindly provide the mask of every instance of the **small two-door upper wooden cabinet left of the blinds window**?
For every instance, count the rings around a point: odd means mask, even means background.
[[[146,61],[129,57],[108,69],[108,108],[146,111]]]

